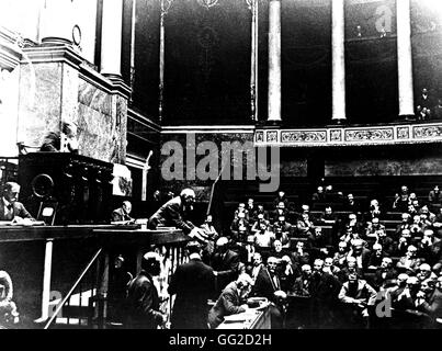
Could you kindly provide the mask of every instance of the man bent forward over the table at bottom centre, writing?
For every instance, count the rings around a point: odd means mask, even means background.
[[[211,329],[218,327],[224,321],[225,316],[240,314],[248,309],[246,298],[252,285],[253,281],[250,275],[242,273],[223,290],[215,306],[208,313]]]

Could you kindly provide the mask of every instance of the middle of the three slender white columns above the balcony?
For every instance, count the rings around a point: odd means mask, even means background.
[[[345,48],[344,48],[344,0],[331,1],[331,70],[332,114],[335,123],[342,123],[345,116]]]

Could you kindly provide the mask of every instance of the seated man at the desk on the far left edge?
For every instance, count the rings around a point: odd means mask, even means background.
[[[0,220],[20,222],[23,218],[34,219],[21,202],[19,202],[20,185],[8,182],[3,188],[3,196],[0,200]]]

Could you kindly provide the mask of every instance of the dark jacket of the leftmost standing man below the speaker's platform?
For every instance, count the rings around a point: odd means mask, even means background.
[[[148,273],[139,272],[129,283],[125,306],[125,322],[128,328],[156,329],[161,322],[158,292]]]

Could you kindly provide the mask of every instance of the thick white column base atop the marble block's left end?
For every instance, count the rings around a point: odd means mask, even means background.
[[[42,13],[42,43],[71,44],[72,13],[71,0],[46,0]]]

